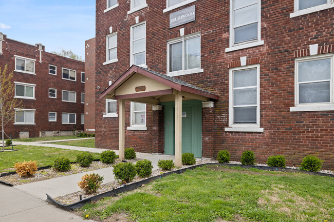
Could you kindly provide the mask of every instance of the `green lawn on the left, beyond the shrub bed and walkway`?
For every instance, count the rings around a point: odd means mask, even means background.
[[[36,160],[39,167],[50,166],[53,164],[55,158],[66,156],[75,161],[77,154],[83,151],[64,150],[52,147],[38,147],[38,146],[15,146],[18,151],[14,152],[0,152],[0,172],[15,171],[14,162],[23,162],[29,160]],[[99,159],[99,153],[93,153],[94,159]]]

